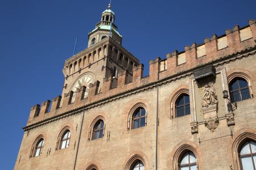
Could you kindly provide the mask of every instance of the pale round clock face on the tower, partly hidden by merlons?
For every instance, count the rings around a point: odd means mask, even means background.
[[[73,84],[73,87],[71,88],[71,90],[74,92],[72,99],[71,99],[71,103],[73,103],[76,99],[76,90],[77,88],[81,88],[82,86],[86,87],[85,93],[84,93],[84,99],[88,96],[88,92],[89,92],[89,84],[90,83],[94,83],[94,78],[92,75],[90,74],[85,74],[80,76],[80,78],[78,78],[76,80],[76,82]]]

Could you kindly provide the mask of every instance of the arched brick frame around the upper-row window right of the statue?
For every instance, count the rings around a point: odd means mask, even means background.
[[[228,87],[230,86],[230,83],[233,82],[235,79],[238,79],[238,78],[242,78],[242,79],[245,79],[247,84],[248,84],[248,88],[249,88],[249,92],[250,92],[250,98],[253,98],[254,95],[253,95],[253,89],[252,89],[252,86],[251,86],[251,78],[248,74],[246,73],[242,73],[242,72],[234,72],[232,74],[230,74],[228,76]],[[230,90],[229,90],[229,96],[230,96]],[[241,100],[243,101],[243,100]]]

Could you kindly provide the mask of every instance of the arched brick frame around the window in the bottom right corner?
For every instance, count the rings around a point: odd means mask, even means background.
[[[245,130],[242,133],[238,133],[234,136],[234,141],[232,143],[232,156],[234,162],[234,169],[242,169],[241,158],[239,155],[242,145],[246,141],[256,142],[256,131],[255,130]]]

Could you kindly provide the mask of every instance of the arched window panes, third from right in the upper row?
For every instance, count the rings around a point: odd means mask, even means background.
[[[146,110],[143,107],[138,107],[133,113],[133,129],[146,126]]]

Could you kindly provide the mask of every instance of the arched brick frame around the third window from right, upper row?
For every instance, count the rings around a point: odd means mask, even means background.
[[[130,109],[130,112],[129,112],[129,115],[128,115],[128,120],[127,120],[127,130],[133,130],[133,116],[134,116],[135,111],[136,111],[138,108],[140,108],[140,107],[144,108],[145,111],[146,111],[146,114],[145,114],[145,116],[143,116],[143,117],[146,117],[146,118],[145,118],[145,126],[147,126],[147,105],[144,104],[144,103],[139,102],[139,103],[135,104],[135,105]],[[145,127],[145,126],[142,126],[142,127],[139,127],[139,128],[143,128],[143,127]],[[139,128],[135,128],[135,129],[139,129]]]

